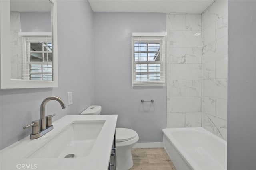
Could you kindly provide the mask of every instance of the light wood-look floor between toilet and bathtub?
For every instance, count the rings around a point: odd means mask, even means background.
[[[130,170],[176,170],[163,148],[132,148]]]

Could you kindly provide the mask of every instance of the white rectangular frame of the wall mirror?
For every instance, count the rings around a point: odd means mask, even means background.
[[[52,3],[52,81],[11,79],[10,0],[0,0],[1,89],[58,87],[57,2]],[[6,43],[8,40],[8,43]]]

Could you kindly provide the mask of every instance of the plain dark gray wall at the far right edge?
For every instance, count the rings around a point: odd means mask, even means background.
[[[228,169],[256,168],[256,1],[228,1]]]

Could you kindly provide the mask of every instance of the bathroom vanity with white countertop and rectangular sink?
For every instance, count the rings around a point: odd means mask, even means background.
[[[38,139],[25,137],[2,149],[2,169],[107,170],[115,167],[118,115],[66,115]]]

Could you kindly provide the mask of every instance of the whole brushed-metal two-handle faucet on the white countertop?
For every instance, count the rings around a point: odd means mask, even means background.
[[[32,121],[30,125],[23,127],[23,129],[32,127],[32,133],[30,134],[30,139],[37,139],[53,129],[52,117],[55,116],[56,114],[45,116],[45,105],[50,100],[56,100],[60,103],[62,109],[66,108],[63,100],[57,96],[51,96],[51,97],[45,98],[40,107],[40,120]]]

